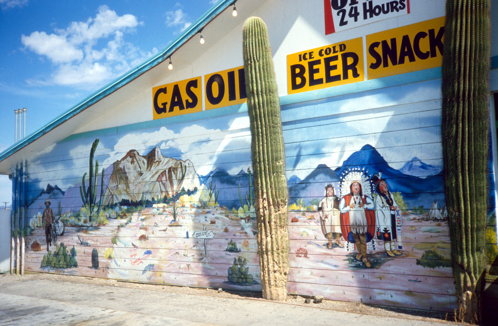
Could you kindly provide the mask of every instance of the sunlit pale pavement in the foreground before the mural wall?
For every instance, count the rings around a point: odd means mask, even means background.
[[[448,325],[317,307],[46,279],[0,286],[1,326]]]

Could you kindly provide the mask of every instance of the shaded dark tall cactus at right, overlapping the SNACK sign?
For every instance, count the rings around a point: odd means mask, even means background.
[[[484,289],[490,1],[447,0],[442,135],[452,264],[461,318],[479,322]]]

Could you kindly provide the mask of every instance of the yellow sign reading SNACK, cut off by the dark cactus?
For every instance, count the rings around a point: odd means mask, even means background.
[[[368,79],[441,66],[444,17],[367,35]]]

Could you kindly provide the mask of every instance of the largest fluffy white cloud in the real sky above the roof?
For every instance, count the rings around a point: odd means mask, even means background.
[[[48,58],[55,66],[48,80],[31,78],[29,83],[81,89],[105,85],[157,53],[156,48],[144,52],[124,40],[126,33],[141,24],[131,14],[119,16],[102,5],[95,17],[73,21],[66,29],[55,29],[51,34],[34,31],[29,36],[22,35],[26,49]]]

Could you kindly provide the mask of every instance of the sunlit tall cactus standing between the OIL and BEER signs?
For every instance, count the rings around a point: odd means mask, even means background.
[[[261,287],[263,298],[285,300],[288,189],[275,70],[268,31],[261,18],[249,17],[244,23],[243,51]]]

